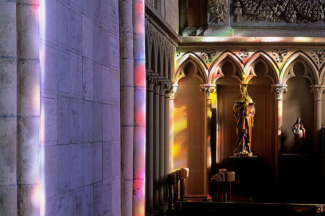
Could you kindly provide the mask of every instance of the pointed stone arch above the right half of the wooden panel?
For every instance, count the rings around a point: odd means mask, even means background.
[[[266,70],[265,77],[269,77],[273,82],[279,82],[279,66],[274,61],[272,57],[270,57],[267,53],[262,50],[256,51],[247,61],[244,63],[244,76],[242,83],[247,84],[250,79],[256,76],[254,68],[257,62],[262,61],[268,70]],[[275,80],[274,80],[275,79]]]

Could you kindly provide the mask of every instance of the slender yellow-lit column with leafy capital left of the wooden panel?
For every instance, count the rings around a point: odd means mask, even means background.
[[[201,84],[200,91],[204,98],[204,194],[209,194],[209,179],[211,178],[211,117],[212,93],[216,84]]]

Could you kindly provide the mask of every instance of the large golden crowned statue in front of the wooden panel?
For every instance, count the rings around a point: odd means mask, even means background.
[[[240,85],[240,94],[237,97],[233,113],[236,117],[236,144],[235,156],[247,154],[252,156],[251,140],[253,131],[253,117],[255,114],[255,103],[248,95],[247,85]]]

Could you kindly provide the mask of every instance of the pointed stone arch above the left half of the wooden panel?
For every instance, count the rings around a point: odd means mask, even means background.
[[[243,62],[233,52],[230,52],[227,50],[227,51],[221,53],[212,62],[210,69],[209,69],[208,83],[215,83],[217,81],[217,79],[224,76],[221,69],[222,69],[222,66],[224,65],[224,63],[227,61],[229,61],[234,68],[234,71],[231,76],[235,77],[235,78],[239,79],[239,81],[241,81],[240,74],[244,70]],[[238,73],[239,73],[239,75],[237,75]]]

